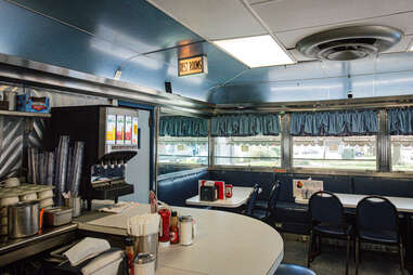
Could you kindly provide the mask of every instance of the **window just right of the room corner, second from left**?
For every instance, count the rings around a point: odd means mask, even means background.
[[[215,165],[280,167],[280,136],[215,138]]]

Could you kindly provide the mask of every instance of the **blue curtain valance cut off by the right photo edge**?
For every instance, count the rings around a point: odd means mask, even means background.
[[[413,134],[413,108],[388,110],[389,134]]]

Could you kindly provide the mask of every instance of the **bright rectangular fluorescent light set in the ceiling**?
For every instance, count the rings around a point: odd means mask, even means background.
[[[216,40],[214,43],[250,68],[295,63],[270,35]]]

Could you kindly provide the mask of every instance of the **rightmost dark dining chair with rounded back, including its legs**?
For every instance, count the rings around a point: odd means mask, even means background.
[[[397,246],[400,270],[403,274],[403,243],[399,231],[399,212],[385,197],[369,196],[359,201],[356,209],[356,275],[359,274],[361,243]]]

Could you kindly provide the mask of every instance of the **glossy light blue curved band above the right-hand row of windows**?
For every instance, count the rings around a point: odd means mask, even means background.
[[[354,99],[412,94],[413,71],[309,79],[284,82],[225,86],[209,94],[216,104],[345,100],[351,88]]]

